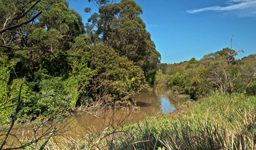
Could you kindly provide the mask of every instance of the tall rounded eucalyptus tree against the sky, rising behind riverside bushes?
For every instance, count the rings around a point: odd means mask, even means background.
[[[86,12],[90,12],[86,8]],[[146,31],[146,24],[140,18],[142,8],[132,0],[107,4],[99,8],[99,13],[92,14],[88,22],[91,29],[102,43],[115,49],[120,56],[142,68],[147,78],[156,71],[160,63],[160,53],[156,51],[151,35]]]

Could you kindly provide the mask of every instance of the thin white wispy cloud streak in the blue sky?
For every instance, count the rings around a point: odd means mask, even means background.
[[[205,12],[205,11],[223,12],[223,11],[235,11],[235,10],[252,9],[252,8],[256,9],[256,0],[228,0],[225,4],[227,4],[228,6],[224,6],[224,7],[211,6],[211,7],[193,9],[186,12],[188,13],[199,13],[199,12]]]

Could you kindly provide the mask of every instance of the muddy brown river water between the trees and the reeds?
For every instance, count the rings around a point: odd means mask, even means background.
[[[174,97],[174,94],[164,89],[153,89],[151,92],[144,91],[136,94],[132,99],[132,101],[136,102],[136,106],[121,108],[119,106],[100,107],[97,104],[94,107],[80,106],[72,113],[56,114],[55,119],[46,119],[43,122],[35,120],[27,123],[16,123],[12,128],[14,136],[9,136],[8,141],[12,142],[12,147],[19,147],[31,142],[41,143],[50,135],[51,129],[55,127],[56,130],[53,136],[57,134],[58,137],[82,139],[85,134],[105,131],[107,127],[124,127],[127,124],[139,123],[146,117],[156,117],[161,113],[171,113],[179,103],[185,101],[184,98]],[[3,134],[6,134],[8,128],[2,129]],[[66,135],[67,133],[68,135]],[[40,137],[40,135],[45,136]],[[38,136],[40,139],[37,139]],[[56,141],[56,136],[53,139]]]

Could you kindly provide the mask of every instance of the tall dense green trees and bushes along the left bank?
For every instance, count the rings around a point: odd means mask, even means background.
[[[160,54],[141,7],[132,0],[98,3],[85,28],[65,0],[1,0],[0,124],[125,103],[150,88]]]

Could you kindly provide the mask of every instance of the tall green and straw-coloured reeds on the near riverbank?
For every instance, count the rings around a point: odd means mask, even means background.
[[[255,149],[256,97],[212,94],[181,104],[176,113],[110,126],[83,136],[61,137],[54,149]],[[120,120],[119,122],[122,122]],[[61,145],[61,146],[60,146]]]

